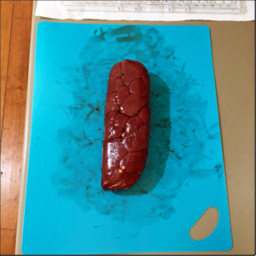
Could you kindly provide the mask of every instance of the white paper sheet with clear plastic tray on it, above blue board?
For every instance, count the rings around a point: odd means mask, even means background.
[[[143,2],[146,3],[143,5]],[[201,9],[195,8],[196,2],[176,1],[184,6],[174,8],[175,1],[37,1],[36,16],[60,20],[255,20],[254,1],[226,1],[232,6],[224,9],[211,5],[221,3],[223,6],[225,1],[200,1],[204,2]]]

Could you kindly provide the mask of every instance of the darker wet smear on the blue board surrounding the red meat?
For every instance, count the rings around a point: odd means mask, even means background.
[[[121,223],[150,225],[175,213],[175,196],[188,179],[219,172],[218,163],[209,169],[197,167],[213,155],[205,144],[219,139],[219,124],[206,128],[203,85],[185,72],[185,62],[164,38],[151,26],[100,29],[85,42],[80,62],[63,67],[74,104],[60,106],[70,122],[57,136],[62,157],[52,184],[85,212],[94,208]],[[138,60],[150,71],[149,156],[131,189],[104,191],[100,179],[105,92],[111,67],[125,59]]]

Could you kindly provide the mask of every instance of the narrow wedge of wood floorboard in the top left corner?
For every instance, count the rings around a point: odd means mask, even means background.
[[[1,1],[1,136],[13,14],[14,1]]]

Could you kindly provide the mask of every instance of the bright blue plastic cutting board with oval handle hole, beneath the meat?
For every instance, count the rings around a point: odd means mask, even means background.
[[[207,26],[37,25],[22,253],[225,251],[232,247]],[[127,191],[100,185],[111,67],[151,77],[145,171]],[[205,239],[190,230],[209,207]]]

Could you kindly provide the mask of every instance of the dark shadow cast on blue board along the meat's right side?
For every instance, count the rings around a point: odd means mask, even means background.
[[[168,84],[156,74],[151,77],[151,126],[149,154],[145,170],[131,188],[125,191],[113,191],[118,196],[142,196],[152,191],[162,179],[169,155],[171,135],[170,91]]]

